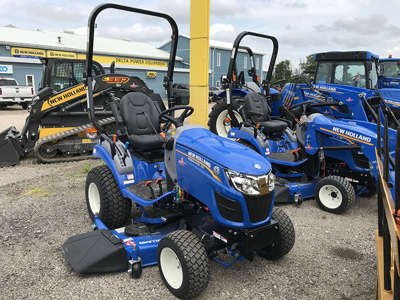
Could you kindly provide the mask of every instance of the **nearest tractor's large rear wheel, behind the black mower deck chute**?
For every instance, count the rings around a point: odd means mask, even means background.
[[[92,168],[86,177],[86,206],[90,218],[98,212],[109,228],[122,227],[130,215],[132,201],[122,196],[118,183],[107,165]]]

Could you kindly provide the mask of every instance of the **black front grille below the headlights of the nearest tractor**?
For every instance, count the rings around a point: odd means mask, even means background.
[[[272,193],[261,196],[243,195],[246,201],[248,216],[251,223],[263,221],[268,217],[271,208]]]

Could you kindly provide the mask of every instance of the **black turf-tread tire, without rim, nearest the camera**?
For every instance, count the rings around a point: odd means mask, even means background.
[[[179,260],[182,270],[180,287],[172,287],[165,279],[160,262],[161,251],[172,250]],[[194,233],[187,230],[177,230],[166,234],[158,243],[158,270],[162,281],[169,291],[178,298],[191,298],[199,294],[209,281],[209,261],[204,244]]]

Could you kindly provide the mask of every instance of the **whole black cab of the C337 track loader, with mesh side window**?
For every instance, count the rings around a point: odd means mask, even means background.
[[[39,90],[48,86],[59,91],[77,85],[83,80],[84,59],[40,57],[40,61],[43,68]],[[97,61],[93,61],[92,76],[101,74],[105,74],[104,68]]]

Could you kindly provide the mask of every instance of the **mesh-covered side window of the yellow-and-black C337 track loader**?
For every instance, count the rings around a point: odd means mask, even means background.
[[[83,61],[57,61],[51,68],[49,86],[55,91],[76,85],[82,82],[85,63]],[[101,74],[100,68],[93,64],[92,76]]]

